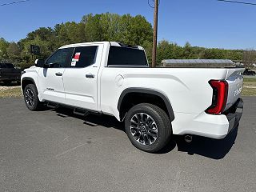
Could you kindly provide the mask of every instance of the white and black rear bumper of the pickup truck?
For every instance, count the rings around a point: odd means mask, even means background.
[[[225,138],[236,126],[242,117],[242,98],[230,107],[225,114],[175,114],[172,122],[174,134],[194,134],[207,138]]]

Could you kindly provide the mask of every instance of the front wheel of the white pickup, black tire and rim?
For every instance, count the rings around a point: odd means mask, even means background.
[[[38,90],[34,84],[29,84],[23,90],[24,101],[26,107],[29,110],[38,110],[40,106],[40,101],[38,99]]]

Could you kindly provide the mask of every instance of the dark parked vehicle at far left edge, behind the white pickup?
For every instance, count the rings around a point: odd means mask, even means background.
[[[20,82],[22,70],[18,70],[12,63],[0,63],[0,82]]]

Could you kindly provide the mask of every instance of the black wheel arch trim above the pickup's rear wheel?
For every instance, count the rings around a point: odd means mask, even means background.
[[[126,90],[123,90],[122,94],[120,95],[120,97],[118,99],[118,111],[119,111],[119,116],[120,116],[121,121],[123,118],[125,118],[126,112],[130,109],[130,107],[126,108],[127,102],[130,101],[129,98],[132,97],[134,94],[140,95],[141,98],[144,98],[144,97],[156,98],[158,100],[158,102],[162,102],[162,105],[164,105],[166,107],[166,114],[170,118],[170,122],[172,122],[174,120],[174,110],[173,110],[173,108],[170,104],[170,100],[169,100],[169,98],[167,98],[166,94],[163,94],[159,90],[134,87],[134,88],[127,88]],[[153,103],[149,102],[149,103],[159,106],[159,104],[161,104],[161,103],[158,103],[157,100],[155,101],[155,103],[154,102]],[[133,101],[134,101],[134,99],[133,99]],[[152,100],[150,99],[150,101],[152,101]],[[142,102],[137,101],[135,103],[138,104],[138,103],[142,103]]]

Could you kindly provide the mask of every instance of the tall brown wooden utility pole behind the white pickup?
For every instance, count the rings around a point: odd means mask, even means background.
[[[158,46],[158,0],[154,0],[154,38],[152,50],[152,67],[156,66],[157,46]]]

